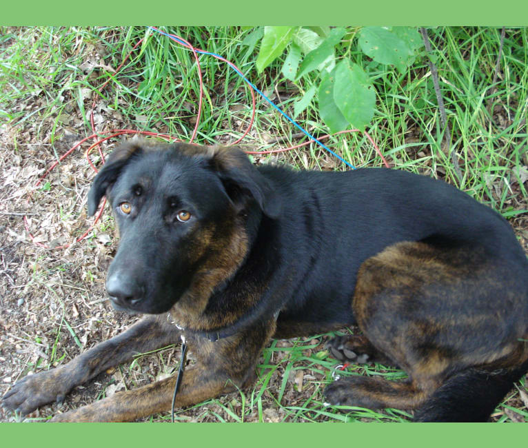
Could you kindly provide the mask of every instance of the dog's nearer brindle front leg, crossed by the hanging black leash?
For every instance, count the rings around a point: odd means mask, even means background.
[[[250,385],[258,355],[274,329],[275,323],[271,320],[214,343],[190,336],[189,347],[197,363],[184,371],[175,406],[187,407]],[[176,375],[59,414],[52,421],[123,422],[168,411],[175,384]]]

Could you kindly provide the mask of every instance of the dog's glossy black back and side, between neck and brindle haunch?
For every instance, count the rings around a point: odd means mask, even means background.
[[[335,303],[342,314],[340,305],[354,294],[365,260],[403,241],[479,248],[516,272],[516,287],[526,292],[528,307],[528,260],[511,226],[455,187],[385,169],[293,172],[263,167],[261,172],[292,204],[283,210],[276,243],[285,249],[285,261],[307,274],[301,294],[291,299],[305,312],[307,302],[318,305],[323,295],[325,306]],[[314,318],[324,316],[321,309],[314,313]]]

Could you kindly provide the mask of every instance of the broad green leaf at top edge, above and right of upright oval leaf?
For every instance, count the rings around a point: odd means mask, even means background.
[[[367,26],[359,33],[361,50],[382,64],[393,64],[401,72],[405,72],[414,52],[398,37],[397,34],[380,26]]]

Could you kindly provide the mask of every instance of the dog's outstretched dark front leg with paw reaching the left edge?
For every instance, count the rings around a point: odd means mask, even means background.
[[[75,386],[134,354],[179,342],[180,332],[166,316],[147,316],[127,331],[96,345],[70,363],[22,378],[2,398],[2,406],[29,414],[42,405],[60,403]]]

